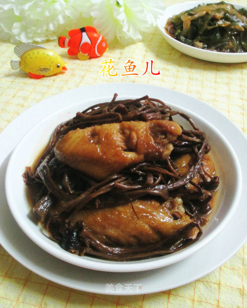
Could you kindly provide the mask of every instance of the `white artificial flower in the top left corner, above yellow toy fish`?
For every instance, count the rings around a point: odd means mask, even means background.
[[[0,0],[0,38],[12,43],[55,40],[90,18],[90,0]],[[91,23],[91,20],[90,20]]]

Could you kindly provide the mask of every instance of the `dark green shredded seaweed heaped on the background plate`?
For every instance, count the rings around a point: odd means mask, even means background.
[[[176,40],[200,49],[247,52],[247,10],[224,1],[174,15],[165,29]]]

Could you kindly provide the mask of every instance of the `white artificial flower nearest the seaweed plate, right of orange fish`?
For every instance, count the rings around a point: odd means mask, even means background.
[[[92,0],[93,24],[108,42],[117,38],[124,44],[137,42],[164,14],[162,0]]]

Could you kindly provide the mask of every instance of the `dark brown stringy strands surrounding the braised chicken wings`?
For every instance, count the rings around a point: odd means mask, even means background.
[[[77,255],[130,260],[178,251],[201,236],[201,226],[211,212],[209,202],[219,184],[217,176],[207,174],[202,168],[203,156],[210,151],[207,137],[188,115],[171,110],[161,100],[149,98],[147,95],[139,99],[118,101],[116,97],[117,94],[111,102],[99,103],[83,112],[77,112],[73,119],[54,129],[50,143],[35,166],[27,167],[23,174],[27,186],[38,192],[33,212],[38,220],[44,223],[51,238],[63,249]],[[141,162],[99,182],[61,163],[55,157],[56,143],[71,130],[130,120],[173,120],[176,115],[185,119],[191,129],[182,127],[182,134],[173,141],[174,149],[165,161]],[[190,170],[181,176],[174,159],[184,153],[190,153],[191,157],[194,157],[194,163]],[[195,184],[192,179],[197,173],[200,174],[201,180]],[[185,213],[193,222],[173,236],[163,238],[157,243],[136,247],[109,247],[101,243],[83,221],[71,226],[69,217],[82,208],[132,204],[134,200],[147,196],[161,202],[181,197]],[[132,209],[134,211],[133,206]],[[199,232],[196,238],[191,238],[191,230],[195,227]]]

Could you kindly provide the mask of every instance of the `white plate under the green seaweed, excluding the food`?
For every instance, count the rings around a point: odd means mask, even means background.
[[[219,2],[219,1],[218,1]],[[227,2],[227,1],[225,1]],[[193,46],[186,45],[178,40],[175,40],[173,37],[168,35],[165,31],[165,25],[167,19],[172,17],[173,15],[177,15],[183,11],[189,10],[199,4],[207,4],[207,3],[217,3],[217,1],[196,1],[196,2],[185,2],[178,3],[172,6],[169,6],[165,10],[165,14],[162,16],[158,16],[157,18],[157,26],[164,36],[165,40],[175,49],[178,49],[182,53],[185,53],[188,56],[195,57],[201,60],[211,61],[211,62],[220,62],[220,63],[239,63],[247,61],[247,52],[246,53],[223,53],[223,52],[215,52],[205,49],[199,49]],[[247,6],[234,4],[232,3],[236,9],[245,8],[247,10]]]

